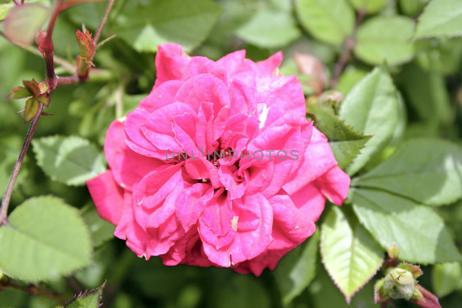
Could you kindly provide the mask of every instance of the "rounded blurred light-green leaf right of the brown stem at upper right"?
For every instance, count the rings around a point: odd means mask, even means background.
[[[389,65],[405,63],[413,58],[412,19],[403,16],[377,16],[362,24],[356,34],[354,54],[366,63]]]

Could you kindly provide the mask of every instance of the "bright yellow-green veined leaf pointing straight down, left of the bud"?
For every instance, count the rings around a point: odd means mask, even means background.
[[[333,206],[321,225],[322,263],[348,304],[377,272],[383,250],[346,209]]]

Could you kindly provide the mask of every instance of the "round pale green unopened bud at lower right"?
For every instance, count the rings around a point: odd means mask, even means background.
[[[383,288],[393,299],[410,298],[414,293],[415,278],[412,272],[394,268],[385,276]]]

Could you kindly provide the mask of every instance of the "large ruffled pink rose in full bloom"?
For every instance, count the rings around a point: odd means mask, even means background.
[[[159,46],[151,93],[110,125],[110,169],[87,182],[139,257],[258,276],[313,234],[326,198],[341,205],[350,178],[281,60],[241,50],[214,62]]]

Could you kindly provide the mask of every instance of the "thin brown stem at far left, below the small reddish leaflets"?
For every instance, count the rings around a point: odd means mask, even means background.
[[[2,224],[8,224],[8,221],[6,220],[6,214],[8,212],[8,205],[10,204],[10,199],[11,199],[11,194],[13,192],[13,187],[14,183],[16,182],[16,179],[18,178],[19,174],[19,169],[21,169],[21,165],[24,161],[24,157],[27,152],[27,148],[29,147],[30,140],[32,139],[32,136],[34,135],[35,128],[37,127],[38,119],[40,118],[40,114],[43,111],[43,103],[40,103],[38,107],[37,114],[34,116],[32,119],[32,122],[30,122],[30,127],[29,130],[27,131],[26,138],[24,140],[23,147],[21,148],[21,152],[19,153],[18,160],[14,164],[13,167],[13,172],[10,177],[10,181],[8,182],[8,186],[6,187],[6,192],[5,195],[3,196],[3,199],[1,201],[1,207],[0,207],[0,226]]]

